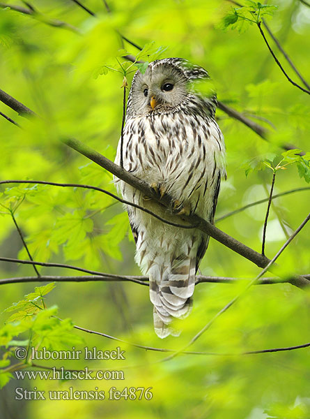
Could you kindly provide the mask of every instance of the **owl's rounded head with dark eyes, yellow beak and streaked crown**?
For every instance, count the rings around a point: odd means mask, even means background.
[[[137,71],[127,103],[127,117],[178,110],[193,96],[193,82],[207,79],[206,70],[181,58],[151,62],[145,73]]]

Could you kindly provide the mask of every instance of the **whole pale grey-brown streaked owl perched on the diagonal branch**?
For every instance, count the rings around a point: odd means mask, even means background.
[[[180,58],[151,62],[137,71],[127,100],[123,149],[116,164],[148,182],[159,196],[173,198],[174,212],[125,182],[114,179],[127,201],[180,223],[180,212],[213,222],[219,184],[226,177],[224,138],[215,122],[216,96],[201,93],[206,70]],[[158,337],[177,336],[174,318],[192,307],[195,275],[209,237],[197,228],[171,226],[127,206],[136,243],[135,260],[149,277]]]

